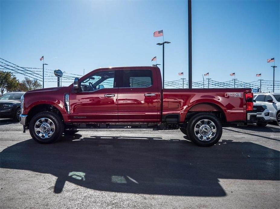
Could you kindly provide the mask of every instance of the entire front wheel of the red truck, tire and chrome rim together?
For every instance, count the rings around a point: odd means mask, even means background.
[[[53,112],[40,112],[31,118],[29,132],[31,137],[42,144],[49,144],[59,139],[64,130],[61,118]]]

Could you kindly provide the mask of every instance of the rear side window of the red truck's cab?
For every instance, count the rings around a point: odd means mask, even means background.
[[[145,88],[153,85],[151,70],[124,70],[124,85],[129,88]]]

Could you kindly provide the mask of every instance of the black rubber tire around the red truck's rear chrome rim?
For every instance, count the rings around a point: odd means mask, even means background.
[[[204,120],[208,121],[208,123],[205,124]],[[203,124],[200,121],[202,121]],[[197,131],[195,132],[195,130]],[[213,132],[214,130],[216,133]],[[197,136],[200,133],[204,133],[206,135],[201,135],[201,139]],[[209,113],[198,113],[191,117],[188,122],[188,138],[198,146],[209,147],[216,144],[220,140],[222,133],[223,128],[221,122],[216,116]]]

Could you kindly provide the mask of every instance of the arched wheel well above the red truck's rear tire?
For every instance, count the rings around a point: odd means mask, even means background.
[[[193,117],[195,114],[202,113],[202,112],[215,115],[221,121],[221,123],[227,121],[224,111],[218,105],[212,103],[199,103],[197,105],[192,106],[189,109],[185,118],[185,122],[188,122],[188,120],[191,117]]]

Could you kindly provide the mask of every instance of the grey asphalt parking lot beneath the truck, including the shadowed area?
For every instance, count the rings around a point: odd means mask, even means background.
[[[1,208],[279,208],[280,129],[80,131],[41,145],[0,120]]]

